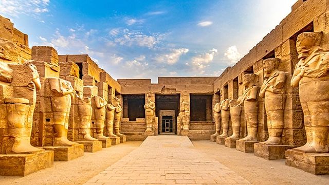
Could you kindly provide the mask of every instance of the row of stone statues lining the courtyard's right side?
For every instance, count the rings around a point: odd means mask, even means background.
[[[322,32],[304,32],[298,36],[299,62],[295,67],[291,86],[299,86],[299,97],[304,113],[307,142],[299,150],[304,153],[329,152],[329,51],[320,47]],[[242,107],[247,125],[244,141],[257,141],[259,97],[264,98],[269,138],[265,145],[282,144],[286,102],[286,72],[279,69],[280,59],[263,60],[264,81],[261,88],[258,75],[243,76],[244,93],[237,99],[226,99],[214,105],[214,136],[228,136],[231,118],[233,135],[239,138]],[[222,135],[220,126],[222,123]]]

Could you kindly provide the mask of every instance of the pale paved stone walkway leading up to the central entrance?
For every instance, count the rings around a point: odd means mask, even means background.
[[[148,137],[138,149],[85,184],[250,184],[193,148],[188,137]]]

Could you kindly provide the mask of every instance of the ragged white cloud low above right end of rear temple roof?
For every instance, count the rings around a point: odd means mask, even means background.
[[[207,53],[199,54],[196,57],[193,57],[191,60],[192,69],[198,74],[205,73],[205,68],[209,66],[210,62],[212,62],[216,53],[217,49],[212,49]]]

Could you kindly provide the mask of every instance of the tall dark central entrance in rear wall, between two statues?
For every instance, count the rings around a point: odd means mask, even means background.
[[[158,134],[177,134],[179,95],[155,95]]]

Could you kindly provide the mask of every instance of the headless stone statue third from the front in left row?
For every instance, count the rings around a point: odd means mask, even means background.
[[[93,107],[92,100],[88,97],[82,97],[76,94],[78,99],[78,115],[79,115],[79,141],[98,141],[98,139],[90,136],[90,127],[92,124]]]

